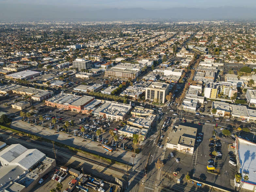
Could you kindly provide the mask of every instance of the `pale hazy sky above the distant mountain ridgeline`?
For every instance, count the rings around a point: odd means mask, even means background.
[[[164,9],[175,7],[209,8],[221,6],[256,8],[255,0],[0,0],[0,7],[27,6],[40,7],[41,5],[74,8],[79,6],[85,9],[102,8],[145,8]]]

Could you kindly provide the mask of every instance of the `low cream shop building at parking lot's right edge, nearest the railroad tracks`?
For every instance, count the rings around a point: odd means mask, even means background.
[[[124,125],[118,130],[119,135],[127,136],[127,137],[136,136],[139,140],[142,140],[142,141],[146,139],[147,133],[148,133],[148,129],[136,128],[130,125]]]

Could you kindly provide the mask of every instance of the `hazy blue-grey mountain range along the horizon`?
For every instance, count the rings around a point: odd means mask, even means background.
[[[255,8],[212,7],[212,8],[168,8],[162,10],[146,10],[143,8],[111,8],[101,10],[85,10],[74,7],[27,7],[13,6],[9,9],[0,6],[0,21],[13,20],[129,20],[129,19],[170,19],[170,20],[224,20],[255,19]]]

